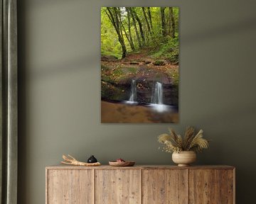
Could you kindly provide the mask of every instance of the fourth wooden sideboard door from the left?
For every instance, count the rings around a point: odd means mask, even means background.
[[[220,171],[218,169],[189,170],[189,204],[220,203]]]

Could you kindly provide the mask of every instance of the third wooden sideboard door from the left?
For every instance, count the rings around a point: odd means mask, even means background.
[[[185,169],[145,169],[142,171],[142,203],[185,204],[188,202]]]

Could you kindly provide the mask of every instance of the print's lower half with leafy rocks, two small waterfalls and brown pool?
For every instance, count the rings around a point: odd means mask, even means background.
[[[102,58],[102,123],[178,122],[178,65],[153,63],[146,52]]]

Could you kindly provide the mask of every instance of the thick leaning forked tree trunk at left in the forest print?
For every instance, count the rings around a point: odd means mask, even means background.
[[[124,58],[127,55],[127,49],[124,44],[122,30],[120,29],[120,25],[119,25],[117,8],[116,7],[107,7],[107,11],[106,11],[107,16],[110,18],[110,21],[111,21],[112,25],[114,26],[114,30],[116,30],[116,32],[117,32],[118,41],[120,42],[121,47],[122,47],[122,58]],[[120,32],[120,30],[121,30],[121,32]]]

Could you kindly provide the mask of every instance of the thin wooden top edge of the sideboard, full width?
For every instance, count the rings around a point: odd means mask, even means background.
[[[135,166],[46,166],[46,169],[235,169],[228,165],[204,165],[204,166],[174,166],[174,165],[135,165]]]

